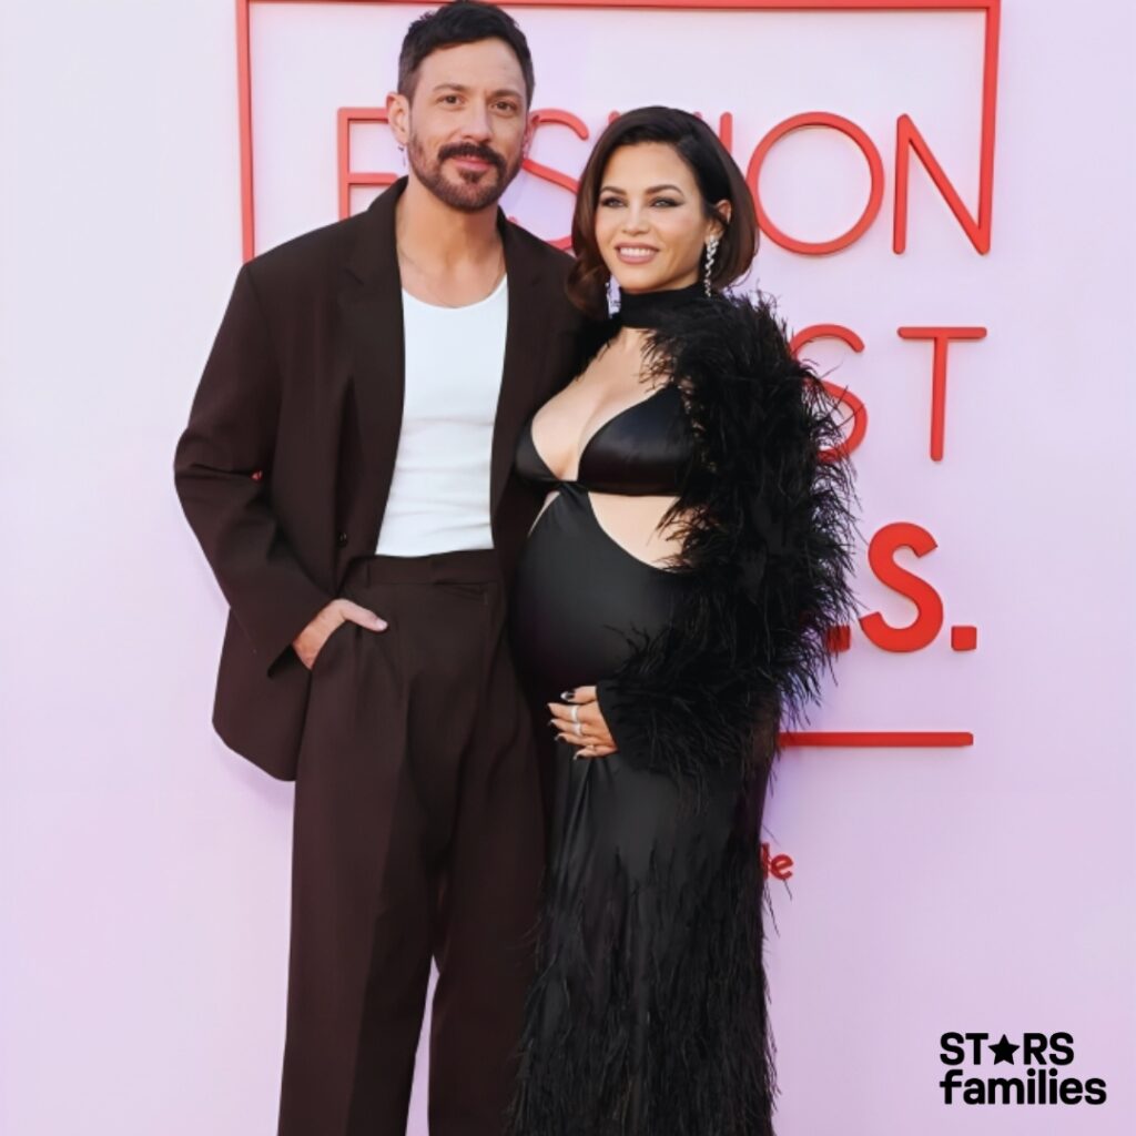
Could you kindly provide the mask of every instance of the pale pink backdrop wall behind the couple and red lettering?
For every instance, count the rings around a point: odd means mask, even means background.
[[[382,105],[420,10],[253,5],[258,248],[334,219],[335,112]],[[233,0],[0,11],[0,1131],[267,1134],[292,791],[211,733],[224,608],[170,477],[240,262]],[[894,560],[933,585],[945,624],[907,652],[853,628],[811,726],[974,744],[782,760],[767,810],[770,854],[792,859],[769,955],[779,1136],[1134,1130],[1130,6],[1002,5],[985,256],[918,162],[908,247],[892,248],[901,114],[976,209],[980,14],[516,14],[536,106],[593,139],[643,102],[729,111],[744,167],[776,123],[825,110],[883,159],[859,241],[826,257],[767,241],[757,283],[793,327],[862,339],[807,353],[868,407],[864,535],[933,534],[933,552]],[[575,174],[588,144],[545,127],[533,156]],[[401,172],[381,128],[353,161]],[[770,216],[804,240],[849,228],[868,189],[830,131],[791,135],[761,177]],[[570,198],[535,177],[506,204],[567,231]],[[897,334],[922,325],[987,331],[951,349],[942,461],[930,346]],[[909,623],[860,563],[864,610]],[[952,625],[977,627],[977,649],[952,650]],[[1068,1031],[1063,1075],[1104,1078],[1108,1102],[947,1108],[949,1030]],[[416,1095],[416,1136],[423,1116]]]

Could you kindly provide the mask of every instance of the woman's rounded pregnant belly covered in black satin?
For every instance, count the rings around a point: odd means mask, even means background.
[[[528,537],[511,603],[523,678],[542,699],[605,678],[640,633],[673,617],[683,579],[636,559],[600,527],[586,493],[561,488]]]

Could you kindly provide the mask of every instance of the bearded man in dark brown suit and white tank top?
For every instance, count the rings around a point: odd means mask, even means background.
[[[177,449],[231,605],[215,725],[296,782],[281,1136],[404,1130],[432,958],[431,1130],[502,1128],[543,863],[512,454],[578,329],[569,258],[496,204],[532,94],[499,9],[416,20],[408,176],[241,269]]]

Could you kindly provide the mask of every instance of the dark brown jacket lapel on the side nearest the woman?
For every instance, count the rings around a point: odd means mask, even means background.
[[[509,276],[509,324],[493,426],[490,502],[494,513],[509,479],[520,428],[542,390],[544,354],[541,345],[550,308],[540,291],[541,273],[536,258],[525,247],[517,228],[506,222],[503,214],[499,214],[498,225]]]

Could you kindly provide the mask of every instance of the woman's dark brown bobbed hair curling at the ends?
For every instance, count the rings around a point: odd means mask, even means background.
[[[705,216],[722,225],[721,243],[710,275],[711,287],[721,290],[744,276],[758,251],[757,211],[753,194],[729,151],[701,118],[673,107],[640,107],[612,119],[587,159],[576,192],[571,223],[576,262],[568,276],[568,298],[595,319],[607,317],[605,290],[611,274],[595,242],[595,209],[600,186],[611,156],[623,147],[661,142],[673,147],[690,166],[702,194]],[[733,207],[730,219],[715,208],[718,201]]]

